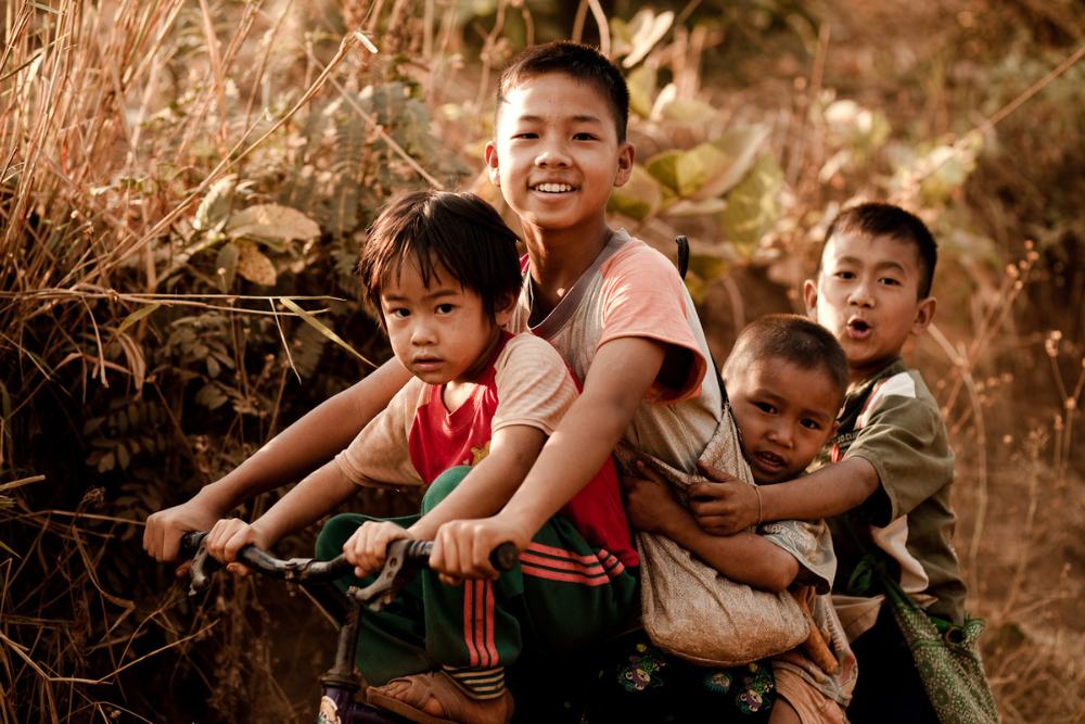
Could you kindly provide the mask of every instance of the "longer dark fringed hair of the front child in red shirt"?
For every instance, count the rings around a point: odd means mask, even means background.
[[[404,263],[417,265],[422,283],[447,269],[482,299],[493,318],[520,293],[519,239],[493,206],[473,193],[416,191],[397,196],[369,228],[358,277],[381,323],[381,290]]]

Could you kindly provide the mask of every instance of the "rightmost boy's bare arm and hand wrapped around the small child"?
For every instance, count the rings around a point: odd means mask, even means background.
[[[761,485],[758,508],[753,486],[717,470],[702,470],[716,482],[690,487],[690,510],[702,528],[716,535],[737,533],[768,520],[840,516],[863,504],[881,484],[872,465],[851,457],[804,478]]]

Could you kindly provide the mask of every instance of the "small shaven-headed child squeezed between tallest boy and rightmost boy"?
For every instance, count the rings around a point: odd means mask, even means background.
[[[768,485],[801,475],[832,436],[847,389],[847,363],[832,334],[816,322],[769,315],[739,335],[724,380],[742,454],[757,484]],[[803,646],[771,660],[777,699],[769,721],[846,721],[856,666],[832,608],[835,557],[826,523],[780,521],[761,525],[757,533],[725,536],[716,532],[718,521],[712,513],[717,490],[713,483],[689,487],[688,510],[665,483],[627,478],[625,487],[635,528],[669,537],[733,581],[765,590],[791,588],[805,599],[829,651],[821,650],[816,660],[816,648]],[[698,673],[685,662],[668,663],[684,672],[678,676]],[[731,676],[703,671],[701,678]]]

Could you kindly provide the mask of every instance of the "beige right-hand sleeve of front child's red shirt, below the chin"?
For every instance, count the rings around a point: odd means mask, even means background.
[[[558,351],[531,334],[509,340],[494,364],[494,374],[498,402],[493,432],[525,424],[550,435],[578,394]]]

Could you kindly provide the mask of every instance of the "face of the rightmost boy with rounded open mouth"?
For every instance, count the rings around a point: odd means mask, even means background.
[[[936,302],[919,299],[921,274],[907,241],[838,232],[826,243],[821,271],[803,296],[807,314],[844,348],[852,382],[884,369],[909,335],[931,323]]]

